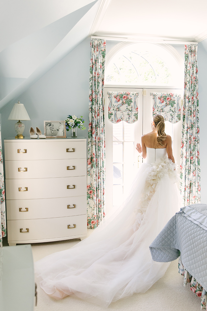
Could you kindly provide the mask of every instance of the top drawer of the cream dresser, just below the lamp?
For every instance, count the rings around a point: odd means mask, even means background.
[[[5,142],[6,160],[57,160],[86,158],[86,141],[36,141]],[[19,150],[19,151],[18,151]]]

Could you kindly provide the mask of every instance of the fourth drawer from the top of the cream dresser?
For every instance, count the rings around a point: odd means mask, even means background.
[[[56,218],[86,214],[86,196],[7,200],[7,220]]]

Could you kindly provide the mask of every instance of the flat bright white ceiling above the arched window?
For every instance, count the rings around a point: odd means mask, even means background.
[[[206,0],[111,0],[96,32],[199,39],[206,12]]]

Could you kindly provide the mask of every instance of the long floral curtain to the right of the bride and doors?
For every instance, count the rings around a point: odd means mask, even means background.
[[[183,204],[200,202],[199,100],[197,45],[185,45],[180,189]]]

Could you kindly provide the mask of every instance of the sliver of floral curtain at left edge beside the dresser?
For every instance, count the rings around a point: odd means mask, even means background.
[[[0,125],[0,210],[1,210],[1,225],[0,230],[0,243],[2,243],[2,237],[6,236],[6,208],[5,208],[5,192],[4,192],[4,169],[3,169],[3,157],[2,157],[2,137],[1,137],[1,125]]]

